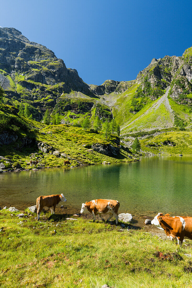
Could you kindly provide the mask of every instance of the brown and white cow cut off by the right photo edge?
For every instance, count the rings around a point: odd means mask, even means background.
[[[170,217],[169,214],[158,213],[151,224],[164,230],[167,237],[172,241],[177,239],[177,244],[180,246],[182,246],[184,239],[192,240],[192,217]]]

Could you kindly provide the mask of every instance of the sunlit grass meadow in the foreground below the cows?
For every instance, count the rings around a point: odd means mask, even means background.
[[[180,248],[142,230],[16,214],[0,212],[2,288],[191,286],[190,241]]]

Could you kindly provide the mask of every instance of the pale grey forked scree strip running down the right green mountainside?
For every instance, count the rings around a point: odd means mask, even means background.
[[[145,113],[143,113],[141,116],[139,116],[138,118],[136,118],[135,120],[133,120],[131,123],[127,124],[126,126],[123,126],[121,128],[121,130],[127,128],[129,125],[133,124],[135,121],[137,121],[138,119],[142,118],[144,115],[148,114],[149,112],[151,112],[152,110],[154,110],[154,112],[159,108],[159,106],[161,104],[164,104],[165,105],[165,108],[167,108],[167,110],[170,112],[170,113],[173,113],[173,110],[171,109],[171,106],[169,104],[169,100],[167,98],[168,96],[168,93],[169,93],[169,89],[170,89],[170,86],[167,87],[166,89],[166,92],[163,96],[161,96],[158,101],[156,103],[153,104],[153,106],[151,106]],[[174,117],[172,115],[172,118],[174,120]]]

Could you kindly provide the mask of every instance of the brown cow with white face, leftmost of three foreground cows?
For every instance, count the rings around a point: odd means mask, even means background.
[[[37,221],[40,218],[40,213],[44,207],[51,208],[51,214],[55,214],[55,207],[59,204],[59,202],[66,202],[65,196],[63,194],[57,195],[48,195],[48,196],[39,196],[36,200],[37,205]]]

